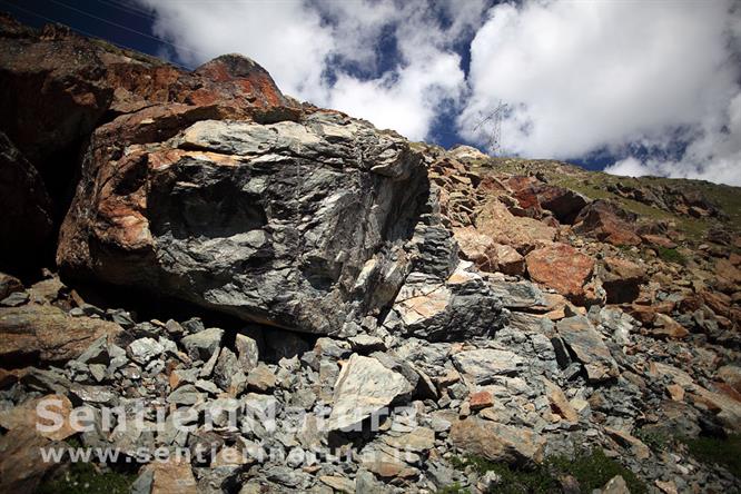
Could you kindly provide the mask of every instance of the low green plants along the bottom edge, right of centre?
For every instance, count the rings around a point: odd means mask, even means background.
[[[471,466],[478,474],[494,472],[501,478],[490,491],[497,494],[547,494],[561,491],[560,477],[571,475],[579,482],[581,492],[601,488],[615,475],[621,475],[631,493],[646,493],[645,484],[633,472],[607,457],[600,448],[579,453],[575,457],[552,456],[543,464],[530,468],[490,462],[480,456],[454,457],[451,464],[457,470]],[[456,492],[456,491],[453,491]]]

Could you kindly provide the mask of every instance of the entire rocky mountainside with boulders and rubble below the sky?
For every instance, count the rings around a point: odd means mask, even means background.
[[[741,488],[740,189],[8,17],[0,107],[0,492]]]

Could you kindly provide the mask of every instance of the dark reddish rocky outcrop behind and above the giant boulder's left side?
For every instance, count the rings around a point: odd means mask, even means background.
[[[3,258],[26,257],[29,264],[38,263],[42,248],[52,250],[52,223],[63,217],[78,158],[100,125],[138,115],[129,129],[144,122],[137,138],[145,142],[196,119],[278,121],[300,113],[269,73],[245,57],[227,55],[184,71],[66,27],[37,31],[7,16],[0,22],[0,184],[3,209],[10,210],[0,248]]]

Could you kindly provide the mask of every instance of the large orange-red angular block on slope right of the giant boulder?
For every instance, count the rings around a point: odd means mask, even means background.
[[[533,250],[525,257],[531,279],[579,302],[584,284],[594,269],[594,260],[566,244],[553,244]]]

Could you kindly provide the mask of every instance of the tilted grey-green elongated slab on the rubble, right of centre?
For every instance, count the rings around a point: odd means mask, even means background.
[[[602,336],[586,317],[573,316],[561,319],[556,324],[556,329],[576,358],[584,364],[590,381],[604,381],[618,376],[618,364],[602,340]]]

